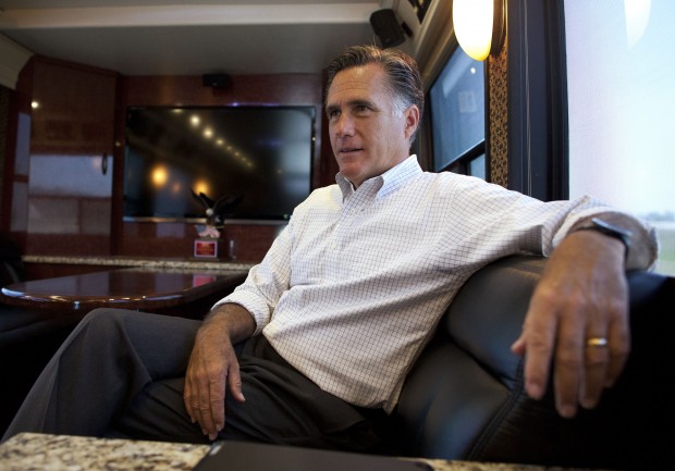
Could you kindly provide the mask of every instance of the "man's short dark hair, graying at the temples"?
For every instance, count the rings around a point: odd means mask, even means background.
[[[403,108],[416,104],[421,120],[425,111],[425,92],[417,62],[405,52],[396,49],[380,49],[377,46],[368,45],[352,46],[345,49],[328,66],[326,96],[328,97],[331,84],[339,72],[367,64],[380,64],[382,66],[388,77],[388,88],[400,102],[397,104],[403,106]],[[417,132],[412,136],[410,142],[415,140],[416,134]]]

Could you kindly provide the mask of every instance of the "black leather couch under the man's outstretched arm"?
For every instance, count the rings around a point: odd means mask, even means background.
[[[461,289],[395,412],[404,454],[604,469],[675,470],[675,278],[630,273],[633,351],[618,383],[574,419],[524,392],[511,352],[545,260],[510,257]],[[551,387],[549,387],[551,391]]]

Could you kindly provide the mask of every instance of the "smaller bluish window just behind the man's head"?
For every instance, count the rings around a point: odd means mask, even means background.
[[[484,66],[456,48],[429,89],[433,170],[486,178]]]

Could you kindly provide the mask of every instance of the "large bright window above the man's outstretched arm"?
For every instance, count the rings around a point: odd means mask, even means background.
[[[653,224],[675,275],[675,2],[565,1],[569,196]]]

